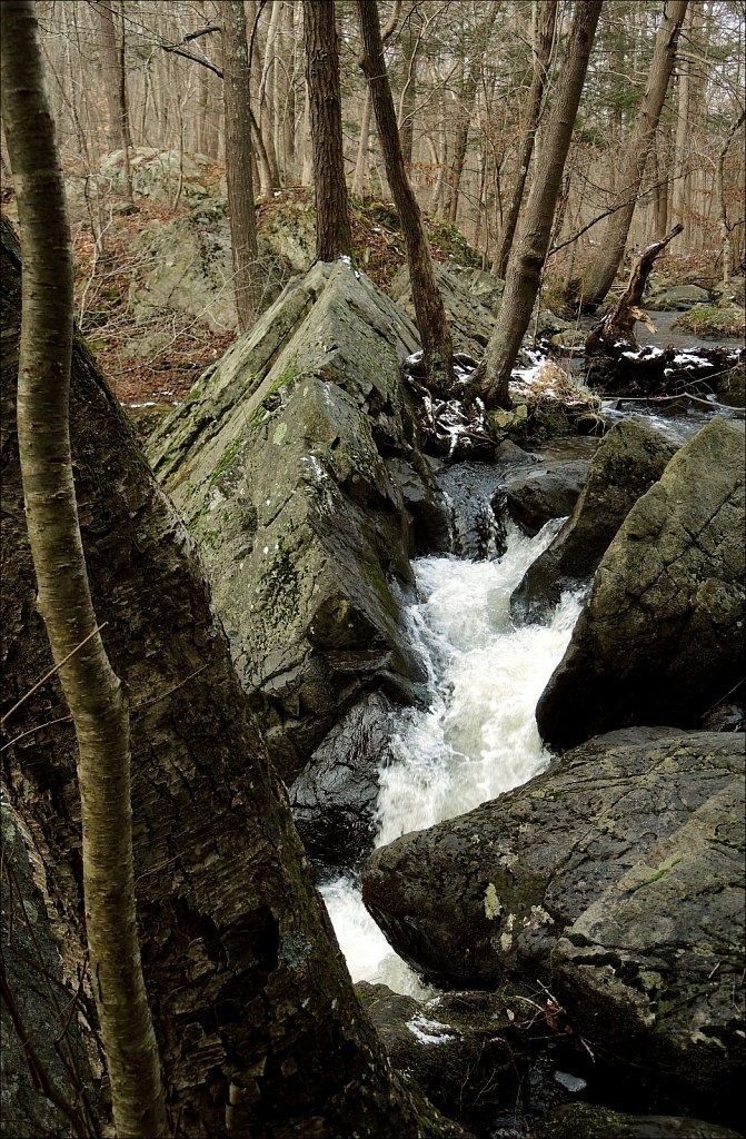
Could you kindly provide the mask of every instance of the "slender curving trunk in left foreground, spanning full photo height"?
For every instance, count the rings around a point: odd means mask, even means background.
[[[75,724],[85,927],[116,1131],[167,1134],[134,907],[130,719],[93,612],[68,431],[73,271],[35,6],[6,0],[2,104],[24,257],[18,451],[41,612]]]

